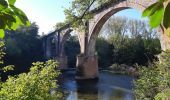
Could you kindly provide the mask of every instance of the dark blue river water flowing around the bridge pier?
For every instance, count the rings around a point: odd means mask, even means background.
[[[99,80],[76,81],[75,71],[62,74],[60,85],[66,100],[135,100],[133,77],[101,71]]]

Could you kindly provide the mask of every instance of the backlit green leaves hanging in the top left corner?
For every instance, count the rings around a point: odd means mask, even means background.
[[[15,1],[0,1],[0,38],[4,37],[4,31],[7,29],[16,30],[19,25],[30,25],[25,13],[14,6]]]

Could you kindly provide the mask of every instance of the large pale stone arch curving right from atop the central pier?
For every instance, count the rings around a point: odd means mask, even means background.
[[[117,4],[104,9],[101,12],[95,14],[95,16],[89,20],[89,38],[88,38],[88,55],[95,55],[95,44],[96,39],[99,35],[101,28],[104,23],[115,13],[125,10],[125,9],[137,9],[143,11],[150,4],[156,2],[157,0],[123,0],[119,1]]]

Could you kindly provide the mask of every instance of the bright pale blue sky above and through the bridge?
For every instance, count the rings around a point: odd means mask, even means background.
[[[64,9],[69,8],[72,0],[16,0],[15,6],[22,9],[31,22],[39,26],[39,34],[54,30],[57,22],[65,19]],[[141,12],[127,9],[115,14],[133,19],[141,19]]]

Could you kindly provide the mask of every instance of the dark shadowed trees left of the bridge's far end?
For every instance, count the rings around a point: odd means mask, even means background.
[[[15,65],[14,73],[26,72],[32,62],[43,61],[42,39],[38,35],[38,26],[20,26],[15,31],[6,31],[4,65]]]

